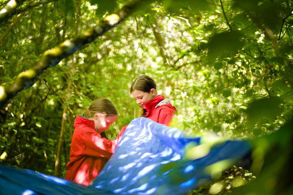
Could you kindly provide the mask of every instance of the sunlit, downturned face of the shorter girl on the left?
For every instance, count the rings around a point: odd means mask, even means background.
[[[97,132],[102,133],[105,130],[109,130],[110,125],[117,119],[117,115],[106,116],[106,114],[96,113],[94,118]]]

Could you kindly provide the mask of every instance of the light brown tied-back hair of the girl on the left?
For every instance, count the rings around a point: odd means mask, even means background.
[[[118,115],[113,103],[106,98],[99,98],[93,101],[90,107],[84,112],[83,116],[85,118],[92,118],[96,113],[106,114],[106,116]]]

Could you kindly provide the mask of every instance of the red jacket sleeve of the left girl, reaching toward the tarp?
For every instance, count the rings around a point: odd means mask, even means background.
[[[111,157],[125,129],[123,127],[116,139],[113,140],[102,138],[99,133],[92,131],[92,129],[85,130],[81,137],[84,154],[94,157]]]

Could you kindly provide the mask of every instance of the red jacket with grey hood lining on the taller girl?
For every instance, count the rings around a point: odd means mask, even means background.
[[[144,106],[147,113],[143,117],[167,126],[169,126],[173,115],[177,112],[176,108],[171,105],[170,100],[162,95],[157,95],[150,101],[145,102]]]

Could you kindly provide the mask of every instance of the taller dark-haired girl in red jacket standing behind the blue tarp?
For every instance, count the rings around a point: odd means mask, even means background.
[[[137,77],[131,85],[130,93],[142,109],[139,117],[147,117],[157,123],[169,125],[176,108],[169,99],[157,95],[156,82],[146,75]]]

